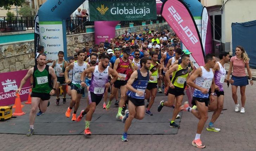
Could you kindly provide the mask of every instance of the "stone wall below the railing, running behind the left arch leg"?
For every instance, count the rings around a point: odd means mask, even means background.
[[[148,26],[150,30],[154,31],[170,29],[167,22],[164,22],[152,25],[116,29],[116,35],[122,35],[125,30],[131,33],[144,32],[146,26]],[[94,45],[94,32],[67,35],[68,57],[73,56],[75,48],[84,48],[86,42],[88,42],[90,46]],[[34,66],[34,64],[35,62],[33,40],[12,42],[0,45],[0,73],[30,69]]]

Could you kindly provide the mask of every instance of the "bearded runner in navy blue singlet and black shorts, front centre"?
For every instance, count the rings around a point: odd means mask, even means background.
[[[122,141],[127,142],[127,131],[132,124],[133,118],[143,119],[145,116],[145,98],[144,93],[148,85],[149,77],[152,73],[149,71],[151,59],[148,57],[142,57],[140,60],[141,68],[134,71],[127,82],[127,95],[129,99],[128,108],[125,111],[125,115],[122,118],[124,124],[124,133],[122,135]]]

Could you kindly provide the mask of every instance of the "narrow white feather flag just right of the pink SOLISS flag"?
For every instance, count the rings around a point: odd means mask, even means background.
[[[208,13],[206,7],[203,8],[202,13],[202,28],[201,28],[201,39],[203,43],[204,53],[205,53],[205,41],[206,41],[206,33],[207,33],[207,24],[208,24]]]

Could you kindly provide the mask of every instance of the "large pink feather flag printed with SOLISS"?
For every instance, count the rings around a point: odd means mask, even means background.
[[[204,65],[204,50],[197,24],[187,6],[181,0],[167,0],[162,5],[162,16],[172,27],[177,36],[192,52],[195,62]]]

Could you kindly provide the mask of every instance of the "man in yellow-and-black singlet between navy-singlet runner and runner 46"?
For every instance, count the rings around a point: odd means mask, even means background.
[[[158,86],[158,76],[159,78],[162,78],[161,75],[161,65],[157,62],[158,61],[158,54],[157,53],[152,53],[151,54],[151,64],[150,64],[150,68],[149,71],[151,71],[152,76],[149,78],[149,82],[147,85],[147,89],[146,89],[146,96],[145,98],[149,100],[149,98],[151,97],[147,110],[146,110],[146,115],[152,116],[153,114],[150,111],[150,108],[152,107],[154,101],[155,101],[155,95],[157,92],[157,86]]]

